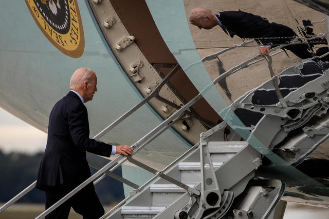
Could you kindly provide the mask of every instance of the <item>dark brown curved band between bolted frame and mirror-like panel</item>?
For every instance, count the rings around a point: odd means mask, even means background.
[[[135,43],[149,63],[158,71],[167,75],[170,70],[168,64],[175,65],[177,61],[163,41],[147,4],[144,1],[136,1],[134,4],[131,4],[129,0],[112,0],[111,3],[127,31],[136,37]],[[136,11],[138,13],[135,13]],[[170,80],[170,83],[172,84],[171,89],[177,96],[179,95],[178,98],[183,103],[187,103],[198,93],[182,69],[178,70]],[[198,115],[211,121],[213,124],[221,120],[220,116],[204,98],[195,103],[191,110],[194,110]]]

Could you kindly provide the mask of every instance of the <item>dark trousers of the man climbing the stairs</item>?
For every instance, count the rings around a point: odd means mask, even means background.
[[[70,189],[72,190],[72,189]],[[63,196],[70,192],[64,187],[54,188],[46,191],[46,209],[51,207]],[[104,215],[104,208],[100,203],[93,183],[88,184],[85,188],[81,189],[77,194],[69,198],[66,202],[58,208],[50,212],[46,219],[66,219],[70,212],[71,207],[84,219],[99,218]]]

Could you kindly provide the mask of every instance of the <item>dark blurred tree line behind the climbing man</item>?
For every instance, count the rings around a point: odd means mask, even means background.
[[[35,154],[4,153],[0,150],[0,202],[8,202],[36,180],[42,154],[42,152]],[[105,159],[94,154],[88,154],[87,159],[100,166],[106,164]],[[93,168],[90,170],[92,174],[96,172]],[[116,169],[114,173],[122,176],[121,167]],[[120,202],[124,198],[122,183],[109,176],[96,184],[95,189],[103,205]],[[17,202],[44,203],[45,193],[39,189],[33,189]]]

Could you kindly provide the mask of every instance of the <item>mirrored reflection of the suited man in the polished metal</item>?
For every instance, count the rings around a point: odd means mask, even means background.
[[[214,14],[209,9],[196,8],[189,16],[191,24],[202,29],[211,29],[219,25],[230,37],[237,35],[241,38],[254,38],[258,44],[261,55],[269,54],[271,45],[289,44],[297,37],[293,29],[277,23],[269,23],[266,18],[251,13],[239,11],[223,11]],[[311,58],[307,44],[285,46],[298,57]]]

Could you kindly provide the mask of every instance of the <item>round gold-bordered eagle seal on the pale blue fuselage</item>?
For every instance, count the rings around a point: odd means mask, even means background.
[[[25,0],[35,23],[64,54],[78,58],[84,51],[84,35],[77,0]]]

